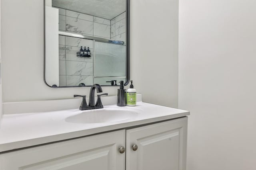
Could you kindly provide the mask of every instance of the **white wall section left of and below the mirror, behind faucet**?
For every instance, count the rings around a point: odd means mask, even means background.
[[[4,102],[89,94],[89,87],[50,88],[44,84],[43,0],[2,0],[2,63]],[[103,92],[116,95],[116,89],[103,87]]]

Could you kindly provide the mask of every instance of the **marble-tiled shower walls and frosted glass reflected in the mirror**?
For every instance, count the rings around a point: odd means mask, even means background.
[[[72,0],[64,1],[70,2]],[[59,31],[122,41],[123,45],[58,35],[59,84],[57,86],[79,86],[80,84],[91,86],[95,83],[110,85],[108,81],[111,80],[117,80],[117,82],[124,80],[125,82],[127,74],[126,11],[114,14],[114,18],[106,19],[82,13],[81,10],[78,12],[64,9],[61,4],[64,1],[52,0],[51,7],[58,10]],[[122,1],[126,2],[126,0]],[[126,6],[124,9],[126,10]],[[95,13],[95,15],[97,14]],[[76,56],[81,46],[83,48],[90,47],[91,57]],[[47,66],[45,69],[47,69]],[[52,86],[52,84],[48,85]]]

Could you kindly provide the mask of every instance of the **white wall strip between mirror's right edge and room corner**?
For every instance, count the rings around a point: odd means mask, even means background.
[[[178,107],[178,0],[131,0],[131,75],[144,102]]]

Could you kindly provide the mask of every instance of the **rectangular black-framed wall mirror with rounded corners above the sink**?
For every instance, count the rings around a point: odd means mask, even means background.
[[[45,0],[46,84],[128,84],[129,5],[129,0]]]

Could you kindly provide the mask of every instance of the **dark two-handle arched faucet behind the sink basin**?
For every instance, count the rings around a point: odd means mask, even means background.
[[[87,105],[87,103],[86,103],[86,96],[74,95],[74,97],[82,97],[83,98],[82,103],[79,107],[80,110],[90,110],[90,109],[103,108],[100,96],[103,96],[103,95],[108,96],[108,94],[104,93],[104,94],[97,95],[98,98],[97,98],[97,102],[95,104],[95,100],[94,100],[95,89],[97,90],[97,93],[102,92],[102,88],[101,88],[100,84],[93,84],[91,89],[90,89],[90,94],[89,94],[89,105]]]

